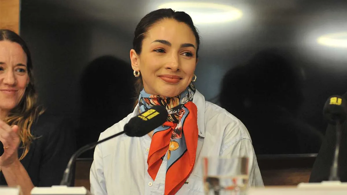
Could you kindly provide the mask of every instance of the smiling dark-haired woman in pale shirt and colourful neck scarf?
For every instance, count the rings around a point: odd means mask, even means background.
[[[168,121],[148,136],[123,135],[98,145],[90,175],[93,194],[203,194],[201,157],[211,155],[248,156],[249,184],[263,185],[246,127],[195,90],[199,44],[185,12],[159,9],[139,22],[130,50],[142,90],[139,101],[99,139],[122,131],[153,105],[166,106]]]

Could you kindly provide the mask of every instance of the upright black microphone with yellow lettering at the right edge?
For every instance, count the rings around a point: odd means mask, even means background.
[[[339,95],[330,96],[324,104],[323,116],[331,125],[336,125],[336,146],[333,163],[330,169],[329,181],[339,181],[338,160],[341,142],[341,124],[346,120],[346,100]]]

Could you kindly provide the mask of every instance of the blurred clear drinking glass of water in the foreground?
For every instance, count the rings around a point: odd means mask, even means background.
[[[248,186],[248,158],[203,158],[205,195],[244,195]]]

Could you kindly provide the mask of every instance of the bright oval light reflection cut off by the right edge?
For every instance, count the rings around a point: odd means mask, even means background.
[[[347,48],[347,32],[326,34],[318,37],[317,42],[334,48]]]

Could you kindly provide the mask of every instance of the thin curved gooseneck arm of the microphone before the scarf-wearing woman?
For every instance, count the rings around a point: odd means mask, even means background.
[[[105,139],[101,139],[101,140],[98,141],[98,142],[94,142],[94,143],[85,145],[85,146],[81,147],[80,149],[78,149],[78,150],[71,156],[71,158],[70,158],[70,160],[69,160],[69,163],[67,164],[67,167],[66,167],[66,169],[65,169],[64,176],[63,176],[63,178],[62,178],[62,180],[61,180],[61,182],[60,182],[60,185],[61,185],[61,186],[68,186],[68,187],[70,187],[70,185],[71,185],[71,180],[72,180],[72,174],[71,174],[71,171],[70,171],[70,170],[71,170],[71,167],[75,164],[75,161],[76,161],[76,159],[78,158],[78,156],[80,156],[81,154],[83,154],[84,152],[86,152],[86,151],[88,151],[88,150],[93,149],[96,145],[98,145],[98,144],[100,144],[100,143],[102,143],[102,142],[105,142],[105,141],[107,141],[107,140],[109,140],[109,139],[112,139],[113,137],[117,137],[117,136],[119,136],[119,135],[121,135],[121,134],[124,134],[124,133],[125,133],[125,131],[119,132],[119,133],[117,133],[117,134],[115,134],[115,135],[112,135],[112,136],[107,137],[107,138],[105,138]]]

